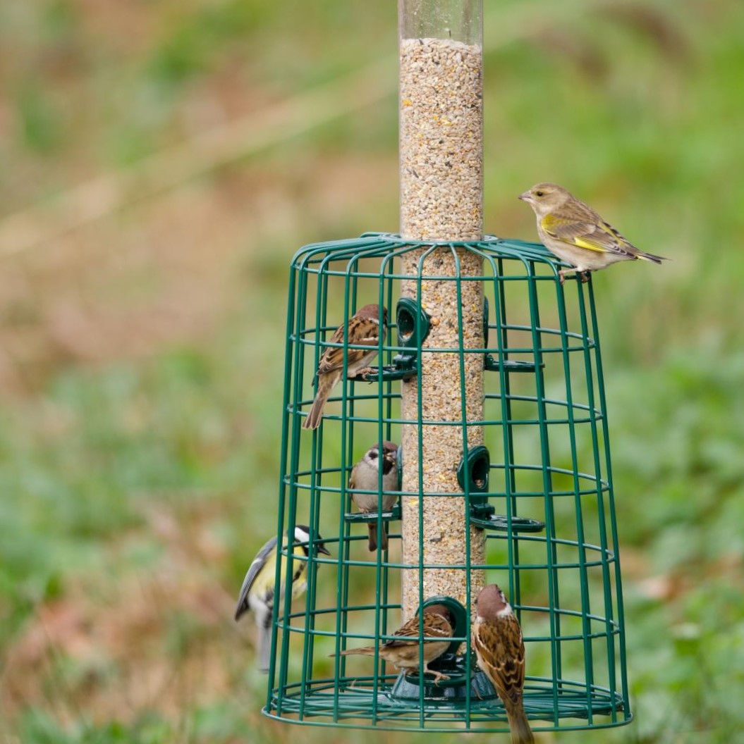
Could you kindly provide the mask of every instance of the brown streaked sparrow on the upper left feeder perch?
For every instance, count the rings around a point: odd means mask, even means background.
[[[377,356],[380,336],[385,341],[387,327],[387,308],[382,309],[382,325],[380,324],[380,306],[365,305],[349,318],[349,346],[346,353],[346,376],[354,377]],[[331,337],[332,344],[343,344],[346,326],[341,324]],[[368,347],[366,349],[352,349],[352,345]],[[323,407],[331,391],[336,387],[343,373],[343,346],[329,346],[325,349],[318,363],[318,387],[310,413],[302,423],[302,429],[317,429]]]

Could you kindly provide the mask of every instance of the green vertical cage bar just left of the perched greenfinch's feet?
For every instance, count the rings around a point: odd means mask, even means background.
[[[553,723],[559,726],[559,679],[562,678],[562,654],[560,642],[556,639],[561,635],[560,615],[556,612],[559,607],[558,573],[556,569],[556,520],[553,513],[553,478],[550,473],[550,446],[547,436],[545,381],[542,369],[542,339],[540,333],[540,311],[538,307],[537,287],[535,286],[534,266],[529,270],[530,290],[530,320],[532,324],[532,348],[535,353],[535,386],[538,403],[538,427],[540,430],[541,469],[543,474],[543,492],[545,504],[545,548],[548,571],[548,604],[550,615],[550,656],[553,664]]]

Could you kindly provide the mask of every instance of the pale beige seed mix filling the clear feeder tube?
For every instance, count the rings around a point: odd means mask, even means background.
[[[401,41],[400,157],[401,234],[409,240],[480,240],[483,233],[483,115],[480,47],[444,39]],[[421,385],[416,378],[403,383],[402,442],[403,490],[420,493],[401,499],[403,560],[419,565],[419,517],[423,516],[423,562],[442,568],[403,571],[403,616],[419,607],[419,585],[424,597],[445,594],[463,604],[467,600],[468,572],[448,569],[465,565],[465,498],[440,496],[462,493],[457,467],[462,460],[461,379],[465,387],[468,421],[483,420],[483,283],[457,282],[461,277],[483,276],[477,254],[457,249],[458,270],[452,248],[436,248],[425,263],[427,248],[403,256],[403,273],[422,280],[419,301],[430,315],[425,347],[453,352],[422,353]],[[462,327],[458,317],[460,285]],[[415,279],[404,280],[401,294],[417,299]],[[422,416],[419,421],[419,397]],[[483,443],[483,427],[468,426],[468,449]],[[422,472],[419,472],[419,435],[422,437]],[[483,530],[471,527],[470,562],[485,563]],[[469,572],[471,599],[483,586],[483,571]]]

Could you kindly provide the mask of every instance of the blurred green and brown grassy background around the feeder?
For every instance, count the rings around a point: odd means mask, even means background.
[[[394,5],[0,4],[4,741],[377,740],[263,719],[232,610],[290,256],[397,226]],[[594,278],[637,719],[541,740],[744,742],[744,5],[485,7],[486,229],[555,180],[673,258]]]

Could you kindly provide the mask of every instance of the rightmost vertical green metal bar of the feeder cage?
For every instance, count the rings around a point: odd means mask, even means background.
[[[620,651],[620,684],[623,687],[623,710],[625,713],[625,719],[628,720],[630,713],[630,701],[628,694],[628,672],[626,670],[626,637],[625,637],[625,611],[623,609],[623,583],[620,578],[620,543],[617,537],[617,521],[615,518],[615,504],[614,504],[614,488],[612,485],[612,466],[610,458],[610,438],[609,438],[609,425],[607,418],[607,400],[605,397],[605,380],[604,374],[602,373],[602,356],[600,353],[600,331],[599,324],[597,323],[597,309],[594,305],[594,286],[593,283],[589,283],[589,308],[591,312],[591,335],[594,338],[594,363],[597,367],[597,391],[600,398],[600,410],[602,411],[602,438],[604,439],[605,449],[605,472],[607,479],[607,495],[608,495],[608,510],[610,519],[610,528],[612,534],[612,545],[614,548],[614,573],[615,573],[615,593],[617,595],[617,623],[619,626],[618,633],[618,645]],[[590,404],[591,405],[591,404]],[[597,472],[599,476],[599,471]],[[601,487],[601,482],[600,482]],[[601,491],[600,491],[601,493]],[[598,519],[600,522],[600,536],[604,537],[606,534],[605,526],[605,509],[604,509],[604,498],[600,496],[598,499]],[[606,544],[602,545],[602,554],[606,556]],[[604,568],[604,566],[603,566]],[[604,578],[604,573],[603,573]],[[608,580],[608,577],[607,577]],[[611,597],[608,599],[609,591],[605,592],[605,616],[608,618],[608,622],[612,618],[612,602]],[[609,631],[609,626],[608,626]],[[610,647],[611,636],[608,635],[608,677],[611,684],[611,691],[614,693],[614,680],[616,679],[615,670],[615,655],[614,655],[614,643]],[[613,710],[613,721],[616,720],[617,711],[615,711],[614,705],[614,694],[612,696],[612,710]]]

